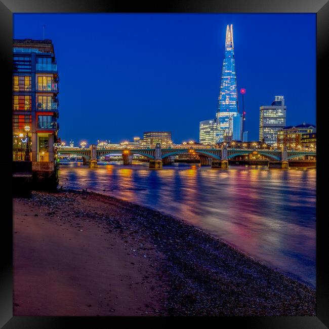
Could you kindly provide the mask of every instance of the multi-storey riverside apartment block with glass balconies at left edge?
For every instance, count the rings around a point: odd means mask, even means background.
[[[35,177],[56,172],[58,81],[51,40],[13,40],[13,160],[31,161]]]

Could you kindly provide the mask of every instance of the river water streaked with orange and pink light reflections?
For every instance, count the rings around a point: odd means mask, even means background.
[[[316,170],[110,162],[60,166],[59,186],[112,195],[182,218],[315,288]],[[66,180],[67,179],[67,180]]]

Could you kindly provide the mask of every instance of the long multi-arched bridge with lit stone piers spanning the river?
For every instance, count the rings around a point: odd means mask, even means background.
[[[300,159],[306,155],[316,156],[314,151],[269,150],[269,149],[236,149],[227,148],[222,145],[220,148],[161,148],[156,144],[155,148],[113,148],[99,149],[96,145],[89,148],[58,148],[59,155],[74,154],[84,159],[84,164],[89,162],[90,168],[97,168],[97,161],[105,155],[121,154],[124,165],[132,165],[134,155],[142,155],[149,158],[149,168],[161,169],[162,165],[171,165],[177,154],[190,153],[199,155],[201,166],[209,166],[215,169],[228,169],[228,160],[235,156],[248,154],[259,154],[269,159],[269,168],[289,168],[289,160]]]

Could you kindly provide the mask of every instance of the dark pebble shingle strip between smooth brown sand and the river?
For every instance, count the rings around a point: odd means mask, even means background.
[[[92,210],[86,199],[104,208]],[[122,241],[153,245],[143,257],[159,273],[162,315],[316,315],[313,289],[183,220],[92,192],[32,192],[30,202],[105,221]]]

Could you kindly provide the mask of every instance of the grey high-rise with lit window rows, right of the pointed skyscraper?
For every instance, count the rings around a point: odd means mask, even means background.
[[[286,106],[283,96],[275,96],[270,106],[259,108],[259,140],[277,146],[277,133],[285,127]]]

